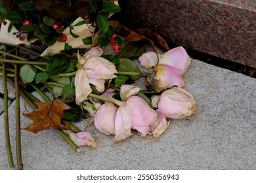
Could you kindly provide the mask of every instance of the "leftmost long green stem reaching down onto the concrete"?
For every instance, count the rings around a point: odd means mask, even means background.
[[[7,90],[7,75],[6,75],[6,65],[2,63],[3,67],[3,91],[4,91],[4,120],[5,120],[5,146],[7,149],[7,156],[9,161],[9,167],[14,168],[14,163],[12,159],[12,150],[10,142],[10,132],[9,132],[9,118],[8,118],[8,90]]]

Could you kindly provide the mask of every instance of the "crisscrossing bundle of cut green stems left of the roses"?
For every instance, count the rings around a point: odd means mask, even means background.
[[[32,107],[37,108],[37,106],[33,103],[35,101],[39,101],[36,97],[34,97],[31,93],[27,92],[22,86],[19,85],[18,81],[18,65],[20,64],[32,64],[34,67],[37,67],[38,69],[41,69],[38,65],[46,65],[47,63],[44,62],[37,62],[37,61],[28,61],[27,59],[21,58],[18,56],[18,48],[26,50],[27,52],[30,52],[31,54],[35,54],[36,56],[39,56],[37,52],[34,52],[33,50],[30,50],[24,46],[15,46],[11,51],[7,52],[7,46],[10,45],[4,45],[4,50],[0,50],[0,76],[3,77],[3,92],[4,92],[4,121],[5,121],[5,144],[6,144],[6,150],[7,150],[7,156],[9,161],[9,167],[11,169],[14,169],[14,161],[12,158],[12,150],[11,150],[11,141],[10,141],[10,131],[9,131],[9,112],[8,112],[8,89],[7,89],[7,81],[11,83],[15,87],[15,99],[16,99],[16,105],[15,105],[15,116],[16,116],[16,159],[17,159],[17,169],[23,169],[22,164],[22,148],[21,148],[21,138],[20,138],[20,95],[25,99],[25,101]],[[13,45],[12,45],[13,46]],[[11,52],[15,51],[15,54],[11,54]],[[7,59],[7,56],[11,57],[12,59]],[[14,69],[11,67],[7,67],[7,64],[12,64]],[[9,73],[7,73],[9,72]],[[11,72],[11,73],[10,73]],[[14,78],[11,79],[11,78]],[[37,86],[30,84],[32,88],[39,93],[45,101],[51,102],[51,99],[45,95],[45,93],[41,92]],[[71,124],[67,120],[62,120],[63,125],[70,124],[69,128],[74,133],[80,132],[81,130],[77,127],[75,127],[74,124]],[[64,138],[68,144],[72,147],[75,152],[80,152],[79,147],[62,131],[61,129],[53,128],[54,131],[56,131],[60,136]]]

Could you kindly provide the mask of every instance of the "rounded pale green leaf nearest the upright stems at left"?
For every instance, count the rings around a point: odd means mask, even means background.
[[[35,74],[37,73],[37,69],[32,65],[26,64],[20,68],[20,78],[23,83],[29,83],[33,81],[35,78]]]

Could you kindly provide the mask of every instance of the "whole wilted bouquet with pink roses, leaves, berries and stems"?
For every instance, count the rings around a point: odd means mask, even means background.
[[[0,74],[10,167],[14,164],[8,136],[7,80],[16,86],[16,108],[22,95],[34,109],[23,114],[33,121],[27,127],[20,127],[17,110],[17,137],[20,129],[38,133],[53,127],[76,152],[79,146],[96,148],[88,131],[93,122],[98,131],[122,141],[132,131],[142,137],[160,137],[171,120],[193,114],[196,101],[182,89],[182,76],[190,64],[186,50],[182,46],[169,50],[164,39],[150,29],[135,32],[108,21],[120,10],[117,1],[9,2],[0,4],[4,45]],[[152,46],[150,51],[143,46],[144,40]],[[43,53],[21,45],[35,41],[46,47]],[[158,44],[165,53],[158,53]],[[19,50],[35,59],[18,56]],[[28,90],[35,90],[45,101]],[[82,118],[89,118],[83,131],[74,125]],[[18,169],[22,169],[20,138],[16,142]]]

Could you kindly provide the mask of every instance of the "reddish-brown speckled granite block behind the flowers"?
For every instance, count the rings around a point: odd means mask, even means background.
[[[150,27],[167,41],[256,67],[255,0],[119,0],[119,5],[117,18],[128,27]]]

